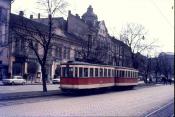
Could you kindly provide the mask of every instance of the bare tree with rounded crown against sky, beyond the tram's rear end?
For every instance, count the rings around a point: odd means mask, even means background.
[[[152,49],[155,41],[146,43],[144,26],[140,24],[130,23],[121,31],[120,40],[127,44],[132,51],[132,64],[134,68],[138,68],[136,53],[143,53],[147,49]]]

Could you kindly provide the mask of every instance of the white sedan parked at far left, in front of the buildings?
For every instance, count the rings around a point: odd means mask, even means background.
[[[2,83],[5,84],[5,85],[6,84],[12,84],[12,85],[14,85],[14,84],[23,84],[24,85],[26,83],[26,80],[23,79],[22,76],[12,76],[12,78],[3,79]]]

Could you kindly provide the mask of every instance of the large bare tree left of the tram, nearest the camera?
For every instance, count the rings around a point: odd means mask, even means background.
[[[13,28],[13,32],[18,36],[18,41],[23,40],[25,47],[33,50],[41,66],[43,92],[47,92],[46,86],[46,63],[48,53],[52,48],[52,41],[55,38],[53,30],[53,17],[57,12],[64,12],[67,2],[64,0],[38,0],[40,8],[48,14],[47,26],[39,27],[32,21],[22,20],[21,26]]]

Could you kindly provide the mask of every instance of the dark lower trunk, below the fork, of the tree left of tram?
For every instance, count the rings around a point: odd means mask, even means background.
[[[41,72],[42,72],[42,84],[43,84],[43,92],[47,92],[47,86],[46,86],[46,68],[45,66],[41,66]]]

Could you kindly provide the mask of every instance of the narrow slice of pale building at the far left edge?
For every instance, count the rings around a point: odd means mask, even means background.
[[[8,74],[9,49],[8,28],[11,0],[0,0],[0,80]]]

